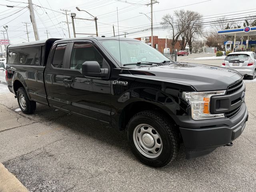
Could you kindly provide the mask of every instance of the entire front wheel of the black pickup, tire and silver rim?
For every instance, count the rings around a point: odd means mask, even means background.
[[[133,154],[144,164],[162,167],[178,154],[179,134],[164,115],[146,110],[135,114],[127,125]]]

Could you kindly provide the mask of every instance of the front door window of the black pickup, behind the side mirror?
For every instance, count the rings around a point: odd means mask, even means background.
[[[103,57],[92,44],[74,43],[70,60],[70,69],[82,70],[82,64],[86,61],[97,61],[102,68]]]

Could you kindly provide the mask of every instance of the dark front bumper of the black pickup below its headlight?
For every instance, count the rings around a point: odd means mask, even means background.
[[[240,111],[234,117],[230,119],[215,119],[215,126],[210,124],[207,126],[206,122],[204,122],[201,128],[181,126],[180,132],[186,148],[186,158],[191,159],[209,154],[217,147],[232,142],[242,134],[247,120],[248,110],[245,103],[243,103]],[[194,120],[190,121],[193,122]],[[204,120],[201,122],[203,121]],[[188,122],[186,122],[186,124],[187,123]],[[200,126],[200,122],[194,121],[194,125]]]

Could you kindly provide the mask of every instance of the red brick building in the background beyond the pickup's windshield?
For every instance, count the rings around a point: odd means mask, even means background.
[[[146,42],[147,44],[151,45],[151,36],[149,37],[138,37],[135,38],[138,39],[140,41]],[[165,38],[158,38],[158,36],[153,36],[153,43],[154,43],[154,48],[156,48],[158,51],[160,52],[164,52],[164,48],[165,48],[165,42],[166,39]],[[167,48],[170,48],[170,51],[172,52],[172,40],[171,39],[167,39]],[[177,41],[175,46],[174,46],[174,50],[179,51],[180,50],[180,43]]]

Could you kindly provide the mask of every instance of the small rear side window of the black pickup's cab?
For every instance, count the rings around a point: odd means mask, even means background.
[[[66,50],[67,44],[58,44],[56,46],[56,49],[54,51],[54,56],[52,59],[52,65],[56,68],[63,68],[63,59],[64,59],[64,53]]]

